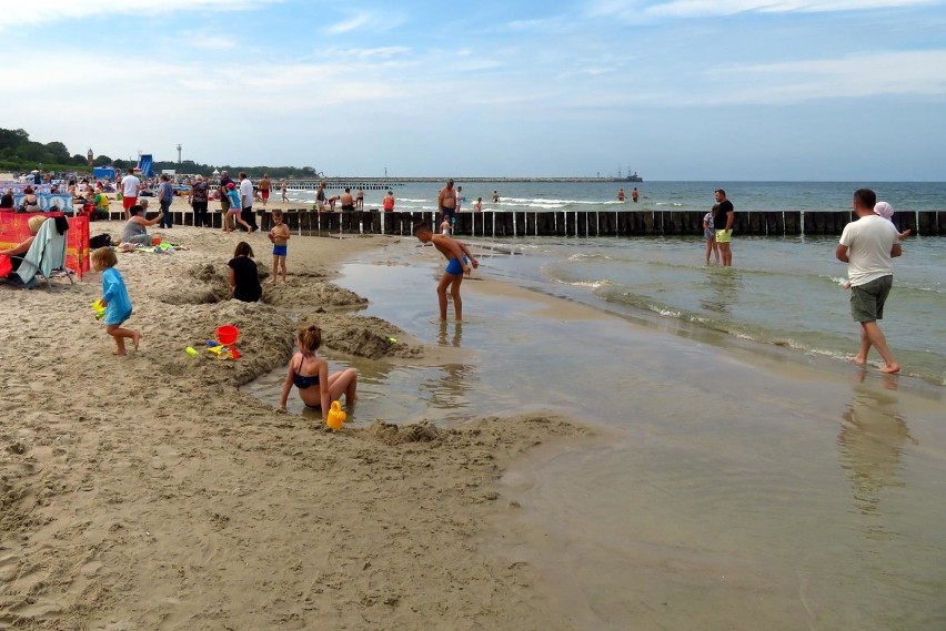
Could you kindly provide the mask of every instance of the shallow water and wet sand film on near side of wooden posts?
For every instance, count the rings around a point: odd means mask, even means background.
[[[895,293],[885,319],[919,377],[844,359],[857,327],[833,240],[739,240],[736,269],[705,267],[698,240],[469,243],[479,275],[605,317],[556,317],[470,279],[464,322],[440,323],[442,266],[402,240],[340,284],[369,298],[366,314],[475,358],[369,376],[358,415],[542,409],[606,428],[604,442],[507,475],[502,496],[520,508],[481,542],[534,566],[576,627],[946,624],[937,240],[907,247],[916,269],[898,267],[896,284],[919,297]],[[923,343],[897,334],[905,322]]]

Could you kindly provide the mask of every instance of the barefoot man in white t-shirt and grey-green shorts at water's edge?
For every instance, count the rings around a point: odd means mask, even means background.
[[[887,347],[877,325],[884,318],[884,303],[894,285],[893,258],[902,254],[900,235],[894,224],[874,214],[877,195],[869,189],[854,192],[854,212],[858,220],[844,226],[835,256],[847,263],[851,282],[851,315],[861,323],[861,350],[854,362],[867,364],[870,347],[884,358],[880,370],[899,373],[900,365]]]

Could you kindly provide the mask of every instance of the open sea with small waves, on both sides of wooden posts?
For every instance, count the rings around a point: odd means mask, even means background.
[[[853,192],[868,186],[897,213],[946,210],[946,184],[916,182],[485,182],[463,185],[464,207],[521,211],[705,211],[725,187],[737,210],[846,211]],[[618,187],[641,191],[621,204]],[[394,186],[397,210],[433,210],[440,184]],[[496,191],[500,203],[492,203]],[[378,206],[383,191],[368,191]],[[469,240],[483,248],[490,274],[551,294],[638,317],[643,314],[846,359],[856,352],[849,293],[839,287],[845,265],[836,237],[739,237],[733,268],[704,265],[694,237],[519,237]],[[515,256],[507,256],[513,254]],[[894,293],[883,328],[908,375],[946,384],[946,238],[910,236],[894,264]]]

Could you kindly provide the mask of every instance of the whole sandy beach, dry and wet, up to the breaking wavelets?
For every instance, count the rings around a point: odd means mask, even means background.
[[[290,283],[243,304],[227,262],[245,240],[268,275],[265,234],[150,232],[183,247],[119,255],[127,357],[99,274],[0,287],[0,628],[942,618],[937,388],[628,322],[491,275],[499,251],[477,252],[461,332],[431,320],[439,255],[395,236],[294,235]],[[341,432],[273,408],[305,322],[330,364],[384,375]],[[238,362],[204,350],[222,324]]]

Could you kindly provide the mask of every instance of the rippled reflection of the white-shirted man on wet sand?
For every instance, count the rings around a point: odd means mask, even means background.
[[[859,380],[863,381],[862,372]],[[880,491],[903,486],[903,445],[910,437],[898,411],[895,377],[880,383],[887,390],[857,384],[837,436],[841,466],[854,486],[854,500],[862,515],[880,511]]]

